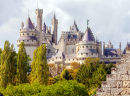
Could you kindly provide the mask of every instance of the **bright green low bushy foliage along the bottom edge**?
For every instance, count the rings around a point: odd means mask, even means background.
[[[50,86],[20,84],[0,89],[6,96],[89,96],[85,86],[72,80],[59,81]]]

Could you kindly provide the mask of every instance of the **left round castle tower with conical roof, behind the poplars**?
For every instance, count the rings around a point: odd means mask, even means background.
[[[34,25],[32,24],[30,17],[28,17],[25,25],[24,23],[22,23],[19,33],[20,33],[20,37],[17,40],[17,46],[19,47],[20,43],[24,42],[27,55],[31,58],[32,61],[33,51],[38,46],[38,40],[36,38],[35,28]]]

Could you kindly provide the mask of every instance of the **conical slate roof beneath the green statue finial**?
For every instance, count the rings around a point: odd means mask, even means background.
[[[95,41],[95,38],[94,38],[93,33],[91,32],[90,28],[87,28],[82,41]]]

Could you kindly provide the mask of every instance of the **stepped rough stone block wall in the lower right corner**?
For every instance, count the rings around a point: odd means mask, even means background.
[[[96,93],[95,96],[130,96],[130,54],[122,55]]]

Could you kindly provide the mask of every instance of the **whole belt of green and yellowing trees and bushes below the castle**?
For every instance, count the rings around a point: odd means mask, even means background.
[[[4,96],[91,96],[114,66],[112,63],[100,64],[99,58],[88,57],[84,64],[72,62],[71,69],[64,69],[51,78],[46,45],[34,50],[31,66],[29,60],[23,42],[18,54],[9,41],[5,42],[4,49],[0,48],[0,93]]]

